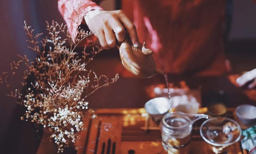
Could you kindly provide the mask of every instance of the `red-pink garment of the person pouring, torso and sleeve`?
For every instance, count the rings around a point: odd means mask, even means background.
[[[224,0],[126,1],[133,3],[139,40],[154,51],[158,68],[179,75],[222,75],[226,71]],[[78,2],[59,0],[59,10],[70,33],[74,33],[75,26],[69,18],[75,18],[73,10],[77,11]],[[101,9],[90,0],[82,2],[85,13]]]

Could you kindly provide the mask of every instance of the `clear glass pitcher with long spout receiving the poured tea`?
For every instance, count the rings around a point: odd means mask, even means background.
[[[162,146],[168,154],[189,154],[192,124],[206,114],[171,112],[164,115],[160,123]]]

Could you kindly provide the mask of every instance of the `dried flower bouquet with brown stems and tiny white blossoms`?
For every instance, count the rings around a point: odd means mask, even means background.
[[[66,26],[47,22],[49,38],[41,41],[43,51],[40,51],[37,39],[42,33],[34,36],[33,30],[25,22],[24,30],[30,43],[28,48],[35,51],[38,57],[31,62],[27,56],[18,55],[21,60],[11,64],[13,75],[22,62],[27,67],[22,83],[25,92],[16,89],[10,94],[17,98],[19,104],[27,108],[21,119],[26,121],[31,119],[35,124],[42,124],[50,129],[52,133],[50,137],[58,145],[58,152],[63,152],[63,147],[68,146],[69,141],[76,141],[77,132],[86,129],[83,127],[82,109],[88,109],[88,102],[85,100],[87,96],[119,78],[116,74],[109,80],[105,75],[97,76],[93,71],[86,69],[86,65],[103,48],[93,48],[91,54],[85,52],[85,48],[82,54],[75,52],[77,45],[87,36],[92,35],[91,32],[77,29],[74,37],[69,35]],[[61,34],[67,38],[62,39]],[[64,46],[65,42],[69,42],[70,49]],[[0,82],[6,81],[7,74],[2,73]],[[31,77],[34,79],[28,83],[28,78]]]

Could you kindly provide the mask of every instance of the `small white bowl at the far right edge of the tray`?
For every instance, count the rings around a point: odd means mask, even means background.
[[[256,106],[243,104],[236,107],[236,115],[244,124],[256,123]]]

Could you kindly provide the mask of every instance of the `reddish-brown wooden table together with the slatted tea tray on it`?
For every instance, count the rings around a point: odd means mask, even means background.
[[[108,72],[104,72],[103,74],[107,73]],[[206,106],[207,104],[213,101],[221,101],[225,103],[228,107],[233,107],[229,108],[229,117],[234,118],[233,109],[236,106],[238,106],[239,104],[255,105],[256,99],[256,89],[247,90],[244,88],[239,88],[236,85],[235,79],[237,78],[237,76],[238,75],[229,75],[221,77],[179,77],[169,75],[169,81],[172,83],[186,81],[187,85],[191,89],[201,87],[202,107]],[[90,126],[93,126],[94,128],[90,129],[90,136],[87,137],[87,131],[83,131],[80,134],[80,139],[77,142],[76,146],[78,154],[100,154],[104,142],[106,152],[107,142],[109,138],[111,139],[112,144],[113,142],[115,142],[115,154],[127,154],[128,150],[130,149],[136,151],[136,154],[143,154],[144,152],[141,151],[144,151],[144,149],[149,149],[149,154],[150,152],[156,154],[156,152],[161,151],[162,147],[160,143],[160,131],[149,130],[145,132],[144,130],[141,129],[141,127],[144,127],[145,124],[145,118],[141,117],[141,114],[146,113],[146,111],[144,111],[144,109],[138,108],[142,108],[149,99],[152,99],[147,89],[149,87],[163,83],[164,78],[159,75],[149,79],[120,78],[116,83],[111,84],[106,88],[99,89],[94,94],[92,94],[87,101],[89,101],[89,108],[102,108],[95,109],[95,112],[98,115],[98,119],[101,118],[100,135],[103,136],[103,138],[101,137],[99,139],[97,143],[97,152],[95,152],[95,139],[98,133],[97,127],[99,126],[99,121],[92,120],[92,122],[94,121],[94,123]],[[254,98],[254,100],[251,99],[249,96],[251,96],[251,98]],[[90,120],[88,118],[85,119],[85,127],[87,128],[89,125],[89,121]],[[111,125],[107,125],[109,123]],[[111,129],[109,129],[110,132],[106,133],[106,131],[104,131],[105,129],[102,130],[102,127],[105,125],[107,125],[106,127],[112,126]],[[203,145],[202,147],[205,148],[205,151],[201,151],[201,153],[207,153],[207,144],[206,142],[202,141],[201,136],[199,136],[198,127],[194,127],[194,130],[195,131],[193,132],[197,133],[193,134],[194,140],[191,143],[192,147],[198,147],[195,145]],[[108,134],[111,135],[108,136]],[[87,151],[85,151],[85,141],[88,141]],[[89,142],[91,143],[89,144]],[[239,153],[239,144],[235,145],[237,145],[236,152]],[[45,154],[45,149],[47,149],[48,154],[56,154],[57,152],[56,145],[50,143],[47,137],[42,137],[40,146],[37,150],[37,154]],[[70,153],[66,151],[67,150],[65,150],[64,153]],[[192,149],[192,152],[196,153],[198,151],[196,151],[196,149]]]

